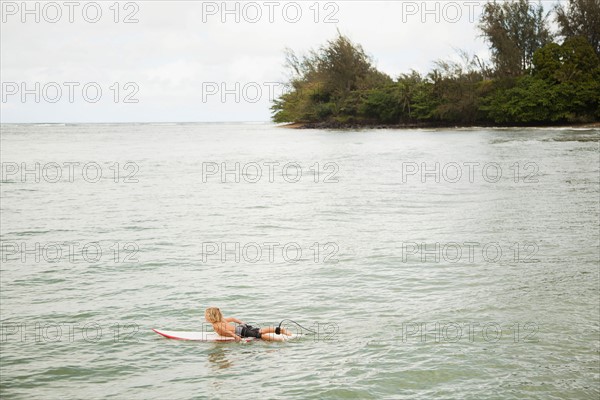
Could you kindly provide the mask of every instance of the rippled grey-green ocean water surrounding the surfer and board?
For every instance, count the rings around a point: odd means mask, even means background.
[[[3,125],[0,395],[597,399],[599,135]]]

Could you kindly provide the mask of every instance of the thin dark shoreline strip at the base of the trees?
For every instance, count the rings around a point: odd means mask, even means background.
[[[412,123],[412,124],[366,124],[366,123],[341,123],[341,122],[292,122],[279,125],[278,128],[284,129],[464,129],[464,128],[589,128],[600,129],[600,122],[589,122],[579,124],[553,124],[553,125],[448,125],[432,123]]]

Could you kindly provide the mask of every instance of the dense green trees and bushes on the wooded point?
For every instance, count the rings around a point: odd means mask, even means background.
[[[549,28],[554,19],[557,32]],[[478,29],[491,59],[459,52],[427,74],[391,78],[338,32],[317,50],[286,51],[289,90],[273,121],[349,125],[540,125],[600,120],[600,0],[485,4]]]

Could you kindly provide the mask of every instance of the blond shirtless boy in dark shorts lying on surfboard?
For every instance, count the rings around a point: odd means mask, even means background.
[[[273,335],[265,335],[266,333],[277,333],[278,328],[273,326],[267,328],[254,328],[250,325],[247,325],[240,321],[237,318],[224,318],[223,314],[221,314],[221,310],[217,307],[207,308],[204,312],[204,318],[206,318],[207,322],[210,322],[213,326],[215,332],[217,332],[221,336],[232,337],[236,342],[239,342],[243,337],[254,337],[257,339],[269,340],[274,342],[282,342],[285,340],[284,337],[281,337],[279,334],[276,336]],[[239,325],[232,325],[231,323],[235,322]],[[287,329],[281,328],[281,334],[291,336],[291,332]],[[264,335],[264,336],[263,336]]]

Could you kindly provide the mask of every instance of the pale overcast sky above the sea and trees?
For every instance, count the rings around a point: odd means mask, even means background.
[[[488,57],[484,0],[1,3],[2,122],[268,121],[285,48],[337,30],[392,77]]]

